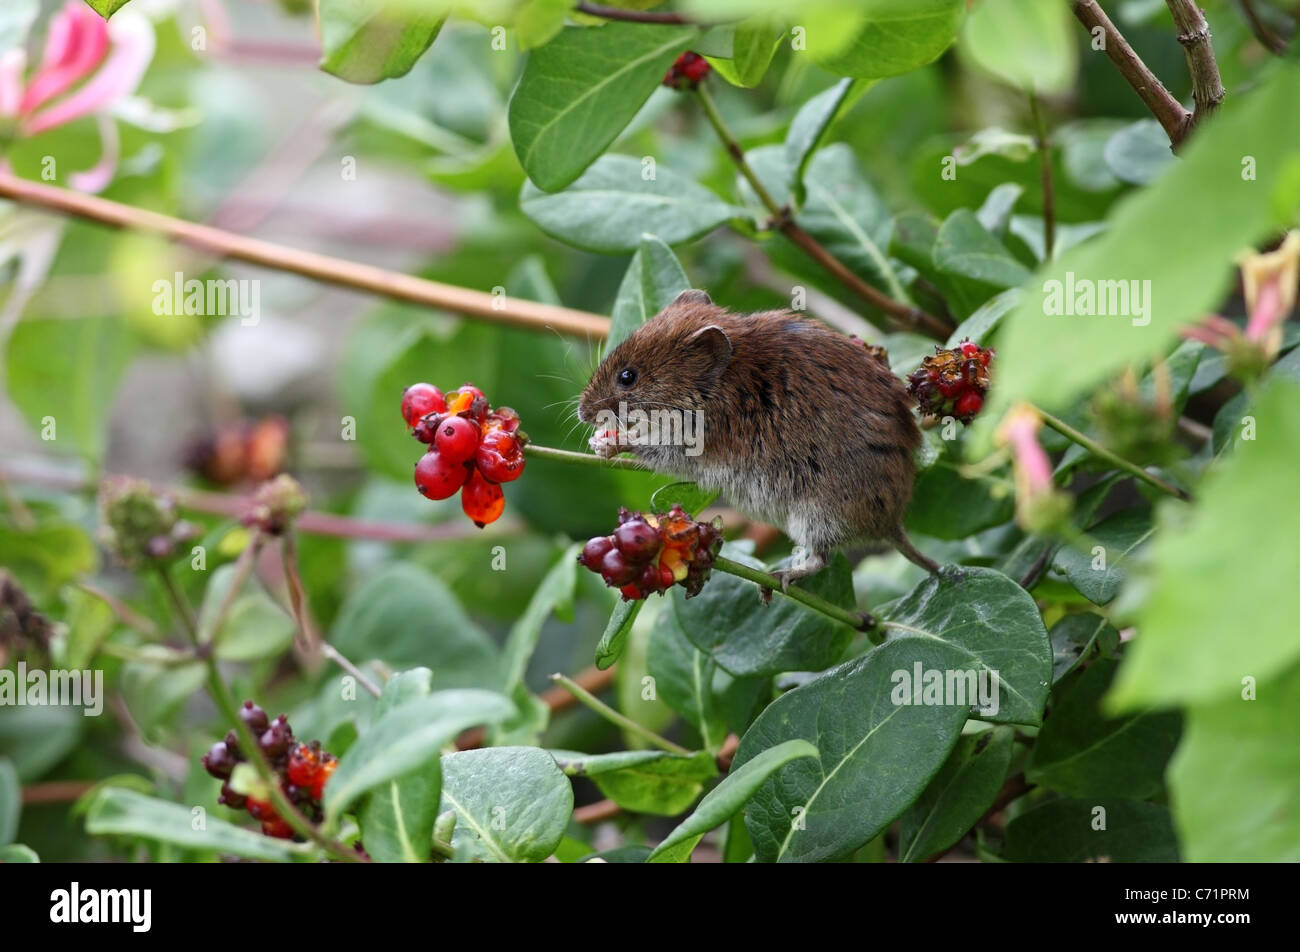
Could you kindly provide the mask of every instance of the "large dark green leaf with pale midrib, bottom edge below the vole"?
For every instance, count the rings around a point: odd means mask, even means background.
[[[820,760],[772,774],[745,809],[760,862],[820,862],[853,854],[889,826],[948,758],[965,705],[896,704],[894,672],[965,663],[928,639],[881,645],[779,697],[741,739],[732,770],[786,740]]]

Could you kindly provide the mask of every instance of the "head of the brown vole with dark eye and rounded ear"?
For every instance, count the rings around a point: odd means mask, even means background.
[[[578,402],[578,419],[602,411],[702,410],[732,359],[719,317],[725,311],[703,291],[682,291],[601,362]]]

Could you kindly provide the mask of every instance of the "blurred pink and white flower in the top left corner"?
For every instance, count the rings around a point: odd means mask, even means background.
[[[94,169],[70,181],[84,191],[101,191],[118,159],[110,112],[140,85],[153,47],[153,27],[143,16],[124,10],[105,23],[82,0],[69,0],[49,21],[40,66],[26,81],[21,48],[0,56],[0,120],[9,120],[14,134],[26,138],[94,116],[103,155]]]

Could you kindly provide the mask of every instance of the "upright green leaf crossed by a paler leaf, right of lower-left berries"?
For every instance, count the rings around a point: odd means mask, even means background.
[[[374,705],[372,721],[429,696],[433,672],[426,667],[402,671],[389,679]],[[374,788],[361,808],[365,852],[378,862],[428,862],[433,823],[438,814],[442,775],[441,754],[434,750],[424,763],[403,776]]]

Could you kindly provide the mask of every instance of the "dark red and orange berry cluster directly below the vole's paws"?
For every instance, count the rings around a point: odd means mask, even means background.
[[[577,561],[598,572],[623,601],[667,592],[680,584],[686,598],[699,594],[723,546],[722,525],[697,523],[681,507],[642,515],[619,510],[619,528],[590,540]]]

